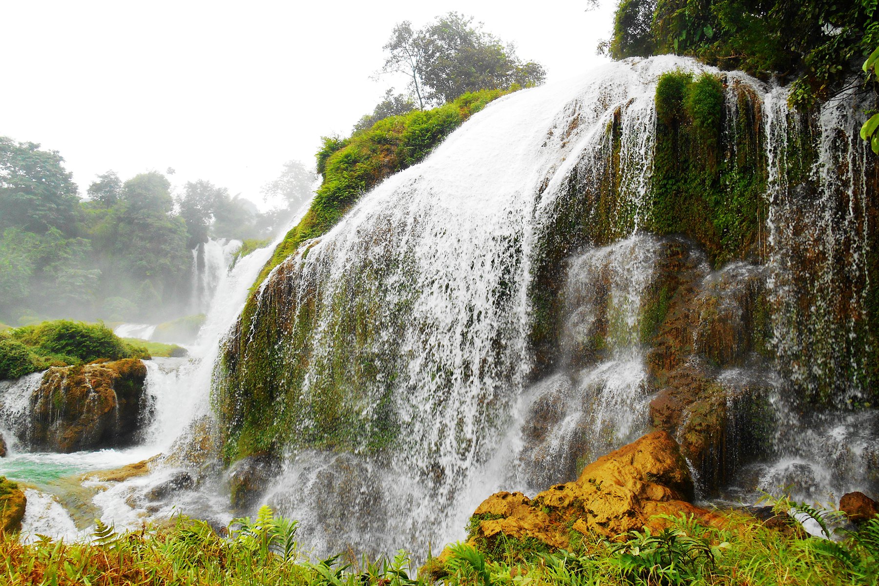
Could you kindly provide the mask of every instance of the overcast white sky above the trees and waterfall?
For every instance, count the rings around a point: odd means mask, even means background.
[[[13,2],[0,0],[0,135],[61,152],[80,192],[98,173],[177,170],[259,198],[322,135],[347,135],[389,85],[370,79],[393,26],[448,11],[540,61],[548,80],[603,58],[613,0],[585,2]]]

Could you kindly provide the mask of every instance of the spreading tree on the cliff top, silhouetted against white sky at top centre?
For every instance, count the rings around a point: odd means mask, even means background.
[[[515,46],[457,12],[419,31],[408,21],[396,25],[384,49],[389,56],[381,73],[409,76],[421,108],[425,102],[443,104],[468,91],[538,85],[546,77],[540,63],[521,61]]]

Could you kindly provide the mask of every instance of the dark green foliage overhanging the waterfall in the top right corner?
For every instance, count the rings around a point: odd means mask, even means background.
[[[686,54],[722,69],[794,80],[798,106],[839,90],[879,42],[874,0],[623,0],[610,41],[614,59]]]

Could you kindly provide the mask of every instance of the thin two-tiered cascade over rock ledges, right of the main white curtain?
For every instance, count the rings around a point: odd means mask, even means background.
[[[648,427],[643,302],[660,241],[634,235],[570,261],[559,372],[525,394],[522,481],[573,480],[592,459]]]

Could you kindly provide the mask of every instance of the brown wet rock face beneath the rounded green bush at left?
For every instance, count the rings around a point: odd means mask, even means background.
[[[54,452],[130,445],[146,403],[146,366],[127,358],[50,368],[31,397],[26,444]]]

